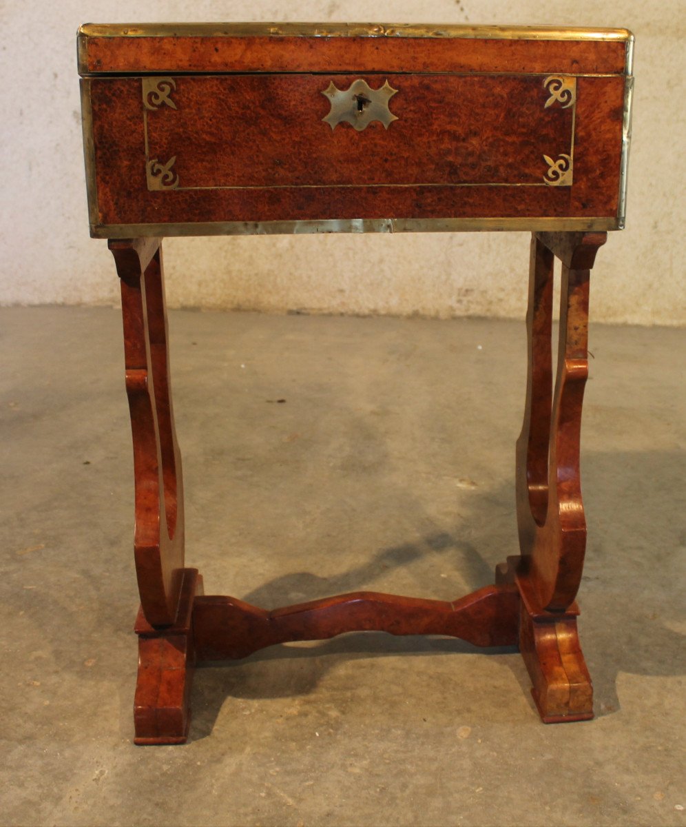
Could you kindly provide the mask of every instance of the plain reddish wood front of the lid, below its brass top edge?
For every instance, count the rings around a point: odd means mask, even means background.
[[[623,40],[92,36],[83,40],[82,71],[622,74],[625,66]]]

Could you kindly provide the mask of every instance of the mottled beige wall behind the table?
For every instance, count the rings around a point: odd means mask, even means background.
[[[0,303],[116,304],[88,238],[75,32],[81,22],[336,20],[627,26],[636,94],[627,229],[600,251],[593,317],[686,323],[686,3],[636,0],[0,0]],[[326,313],[521,316],[522,233],[170,239],[169,304]]]

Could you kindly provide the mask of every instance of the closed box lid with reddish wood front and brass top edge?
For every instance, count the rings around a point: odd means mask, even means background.
[[[378,41],[374,49],[368,48],[369,38]],[[311,41],[307,48],[303,48],[303,39]],[[360,48],[355,41],[367,41],[367,47]],[[626,29],[408,23],[88,23],[79,29],[79,74],[631,74],[632,50],[633,36]]]

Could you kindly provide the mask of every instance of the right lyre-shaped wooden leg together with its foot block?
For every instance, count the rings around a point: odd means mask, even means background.
[[[606,233],[540,233],[531,240],[529,370],[517,442],[522,557],[511,565],[522,596],[520,648],[548,723],[593,717],[574,597],[586,548],[579,437],[588,377],[588,282]],[[554,256],[562,262],[560,339],[551,397]]]

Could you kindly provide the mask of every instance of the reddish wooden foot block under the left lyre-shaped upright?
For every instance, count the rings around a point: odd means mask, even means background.
[[[179,614],[166,629],[154,629],[142,609],[136,619],[138,680],[134,700],[137,744],[185,743],[190,723],[193,600],[202,593],[197,569],[183,569]]]

